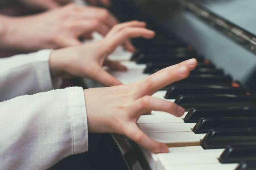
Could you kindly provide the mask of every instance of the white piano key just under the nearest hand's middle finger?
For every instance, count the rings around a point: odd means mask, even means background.
[[[137,124],[142,123],[170,123],[170,122],[180,122],[184,123],[184,121],[179,117],[174,117],[171,114],[167,115],[158,115],[158,114],[151,114],[151,115],[141,115],[137,121]]]

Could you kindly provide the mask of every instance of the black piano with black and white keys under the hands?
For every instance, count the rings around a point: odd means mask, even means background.
[[[187,79],[153,95],[183,106],[186,113],[175,117],[152,111],[137,122],[152,139],[166,143],[168,153],[154,154],[111,134],[127,169],[256,170],[253,5],[240,0],[113,0],[110,10],[120,21],[143,20],[156,31],[152,40],[132,40],[134,54],[118,48],[110,55],[128,67],[127,72],[110,71],[123,83],[189,58],[198,60]]]

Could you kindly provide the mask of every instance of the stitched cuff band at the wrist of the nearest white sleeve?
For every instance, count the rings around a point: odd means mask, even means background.
[[[66,89],[68,90],[68,113],[72,131],[72,154],[78,154],[88,150],[88,124],[84,91],[81,87]]]

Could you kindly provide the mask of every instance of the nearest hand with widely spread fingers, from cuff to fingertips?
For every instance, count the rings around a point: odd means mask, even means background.
[[[168,152],[166,144],[148,137],[136,121],[140,115],[152,110],[182,116],[185,111],[182,107],[151,95],[168,84],[188,77],[196,65],[196,59],[190,59],[164,68],[136,83],[85,90],[89,131],[123,134],[152,152]]]

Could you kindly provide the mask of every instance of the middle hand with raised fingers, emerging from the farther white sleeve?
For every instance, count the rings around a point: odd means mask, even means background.
[[[105,86],[122,84],[106,72],[102,66],[115,70],[126,70],[118,61],[107,59],[118,45],[128,45],[129,38],[154,37],[154,31],[145,28],[146,24],[139,21],[121,23],[113,27],[102,41],[88,43],[76,47],[55,50],[50,56],[52,76],[80,76],[92,78]]]

